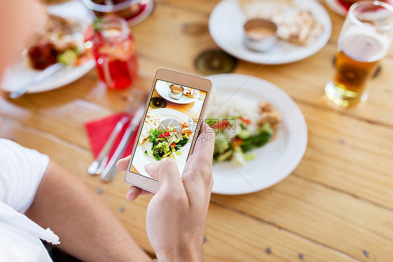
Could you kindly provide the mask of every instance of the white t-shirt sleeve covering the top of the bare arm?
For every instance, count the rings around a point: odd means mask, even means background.
[[[48,156],[0,139],[0,201],[17,212],[26,212],[48,163]]]

